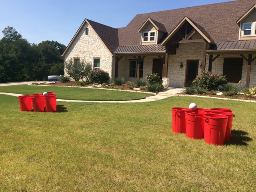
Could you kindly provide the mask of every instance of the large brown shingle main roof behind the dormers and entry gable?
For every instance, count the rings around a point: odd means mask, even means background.
[[[138,28],[147,18],[163,24],[170,33],[184,16],[200,25],[215,42],[238,40],[239,26],[236,21],[254,4],[256,0],[238,0],[138,14],[125,28],[118,28],[119,46],[140,45]]]

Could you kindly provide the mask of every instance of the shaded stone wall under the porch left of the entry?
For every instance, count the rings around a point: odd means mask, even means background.
[[[162,55],[163,57],[163,55]],[[130,61],[129,59],[134,59],[133,55],[131,56],[123,56],[122,59],[118,63],[118,77],[124,77],[126,81],[136,81],[136,77],[129,77],[130,74]],[[143,63],[143,77],[146,78],[148,74],[152,74],[153,68],[153,59],[159,59],[158,55],[156,56],[148,56],[144,58]],[[140,78],[140,79],[142,79]]]

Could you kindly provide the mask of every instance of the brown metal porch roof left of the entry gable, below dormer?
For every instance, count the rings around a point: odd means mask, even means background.
[[[157,45],[134,45],[134,46],[119,46],[114,53],[115,54],[128,54],[128,53],[154,53],[165,52],[165,46]]]

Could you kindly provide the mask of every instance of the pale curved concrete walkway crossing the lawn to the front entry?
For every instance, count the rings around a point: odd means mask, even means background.
[[[64,102],[94,102],[94,103],[140,103],[140,102],[150,102],[150,101],[157,101],[161,99],[168,98],[173,96],[174,94],[182,92],[182,89],[179,88],[169,88],[167,91],[160,92],[157,95],[146,97],[145,99],[140,100],[131,100],[131,101],[83,101],[83,100],[67,100],[67,99],[57,99],[57,101],[64,101]],[[10,96],[21,96],[22,94],[16,93],[4,93],[0,92],[0,94],[10,95]]]

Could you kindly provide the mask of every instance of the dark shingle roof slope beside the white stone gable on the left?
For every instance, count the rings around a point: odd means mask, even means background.
[[[88,22],[110,50],[110,52],[114,53],[114,50],[116,50],[118,47],[118,30],[116,28],[112,28],[92,20],[88,20]]]

